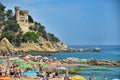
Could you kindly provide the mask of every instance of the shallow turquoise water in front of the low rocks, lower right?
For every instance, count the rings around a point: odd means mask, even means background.
[[[96,70],[96,68],[100,70]],[[94,76],[96,80],[103,80],[104,76],[107,77],[108,80],[114,78],[120,79],[120,67],[90,66],[89,68],[83,68],[78,71],[78,73],[84,76],[86,80],[89,80],[91,75]]]

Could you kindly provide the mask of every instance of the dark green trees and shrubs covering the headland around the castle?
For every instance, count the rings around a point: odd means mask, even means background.
[[[39,37],[43,37],[45,40],[52,42],[60,41],[54,34],[47,33],[45,26],[41,23],[34,22],[31,15],[28,15],[28,22],[35,23],[34,26],[30,26],[30,32],[23,34],[19,24],[15,20],[15,16],[11,9],[5,11],[5,6],[0,3],[0,29],[2,33],[0,34],[0,40],[6,37],[12,44],[20,46],[22,42],[38,42]]]

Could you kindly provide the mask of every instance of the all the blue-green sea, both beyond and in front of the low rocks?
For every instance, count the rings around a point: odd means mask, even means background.
[[[96,59],[96,60],[116,60],[120,61],[120,45],[69,45],[69,48],[88,48],[93,50],[98,47],[101,48],[101,52],[66,52],[55,53],[53,57],[59,60],[66,59],[68,57],[75,57],[79,59]],[[98,70],[96,70],[96,68]],[[89,66],[82,68],[76,75],[81,75],[89,80],[90,76],[93,76],[95,80],[103,80],[104,77],[107,80],[120,79],[120,67],[108,67],[108,66]]]

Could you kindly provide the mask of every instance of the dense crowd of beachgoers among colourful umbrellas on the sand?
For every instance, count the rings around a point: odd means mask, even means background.
[[[13,58],[18,56],[17,53],[1,52],[0,55],[4,58],[0,60],[0,76],[9,76],[10,79],[6,80],[52,80],[54,78],[68,80],[69,78],[68,70],[63,66],[71,66],[71,63],[32,55]],[[60,75],[61,70],[64,71],[64,76]]]

